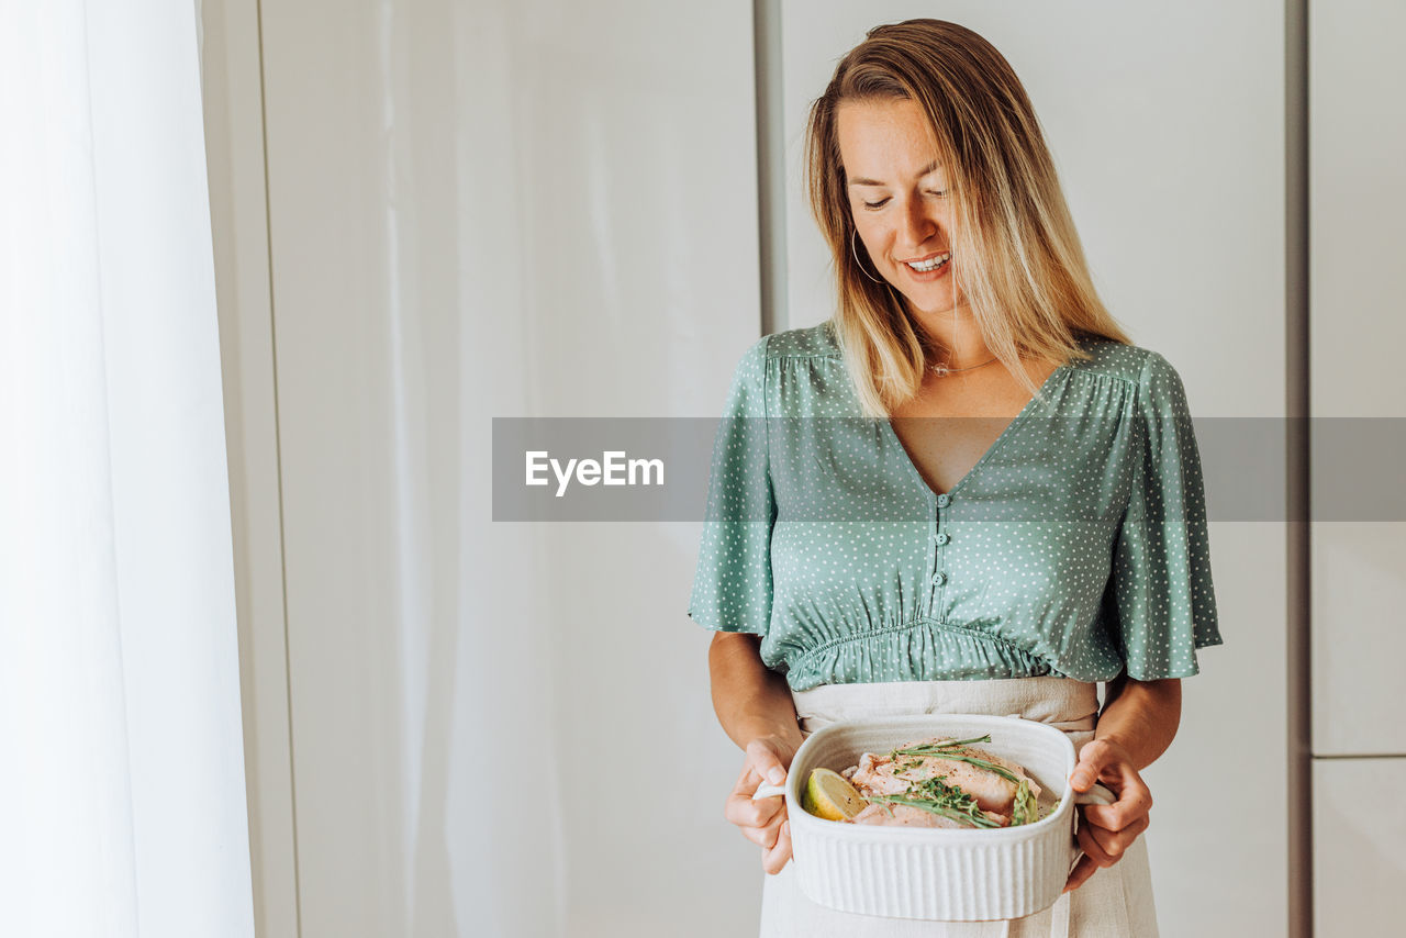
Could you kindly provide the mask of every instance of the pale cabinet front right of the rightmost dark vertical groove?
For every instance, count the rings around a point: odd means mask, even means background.
[[[1395,692],[1406,655],[1406,523],[1399,499],[1395,510],[1382,499],[1376,520],[1344,512],[1362,503],[1364,487],[1400,489],[1406,444],[1396,378],[1406,345],[1406,110],[1396,93],[1406,63],[1395,53],[1406,7],[1346,0],[1309,10],[1312,413],[1324,440],[1313,464],[1323,520],[1312,525],[1315,921],[1320,935],[1386,934],[1399,928],[1406,882],[1406,803],[1388,795],[1371,811],[1351,806],[1406,783]],[[1376,453],[1353,458],[1365,449]]]

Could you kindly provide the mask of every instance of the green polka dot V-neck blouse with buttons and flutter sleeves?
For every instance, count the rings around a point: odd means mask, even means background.
[[[866,418],[830,323],[763,338],[720,423],[689,616],[823,683],[1197,674],[1220,644],[1177,371],[1084,339],[949,492]]]

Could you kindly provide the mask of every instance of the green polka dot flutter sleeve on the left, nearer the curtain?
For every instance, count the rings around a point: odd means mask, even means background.
[[[707,629],[766,634],[776,520],[769,463],[763,338],[737,366],[713,443],[707,515],[689,599],[689,617]]]

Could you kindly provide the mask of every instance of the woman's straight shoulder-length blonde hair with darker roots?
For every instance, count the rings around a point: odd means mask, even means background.
[[[955,23],[880,25],[849,51],[810,110],[806,135],[811,211],[835,264],[835,330],[859,399],[887,416],[917,395],[941,343],[921,333],[903,298],[860,269],[839,159],[842,101],[905,98],[927,115],[953,203],[952,273],[987,347],[1026,390],[1022,356],[1087,359],[1080,338],[1130,345],[1088,274],[1054,163],[1029,97],[1010,63]]]

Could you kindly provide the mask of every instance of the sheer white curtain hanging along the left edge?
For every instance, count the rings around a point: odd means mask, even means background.
[[[0,28],[0,934],[253,935],[195,10]]]

